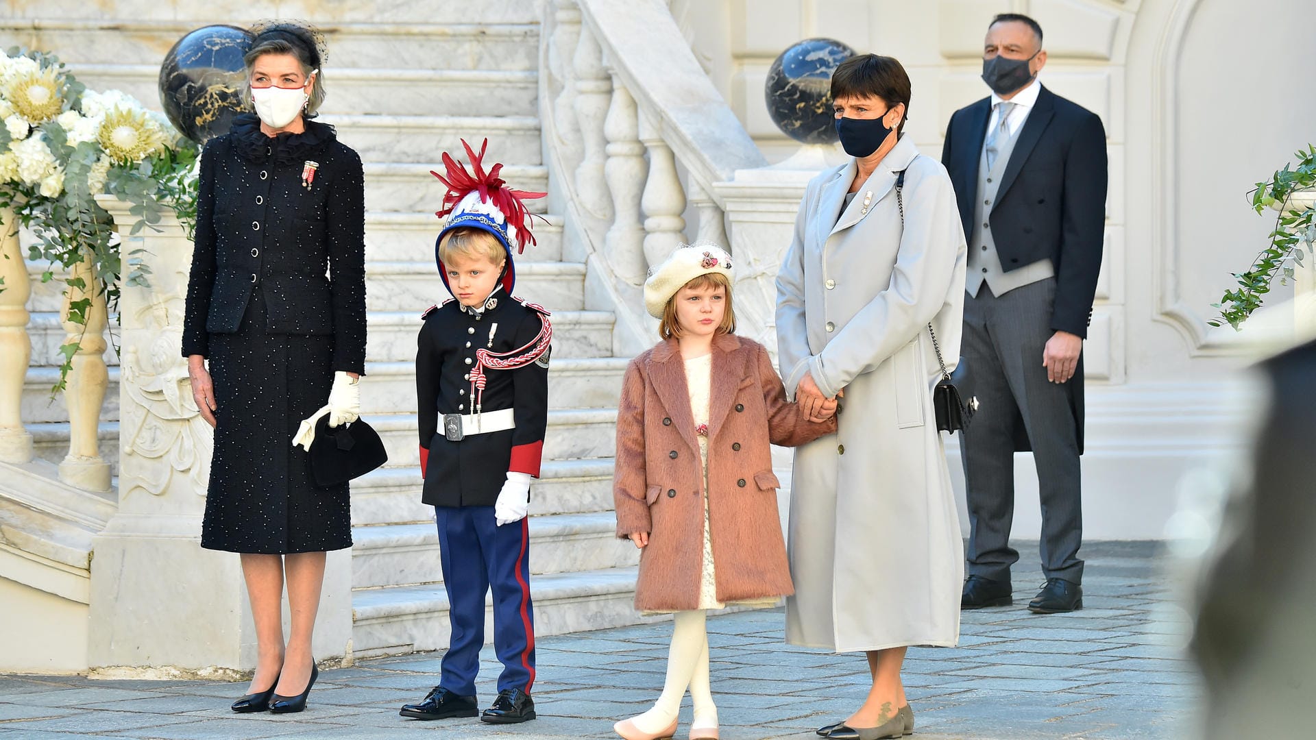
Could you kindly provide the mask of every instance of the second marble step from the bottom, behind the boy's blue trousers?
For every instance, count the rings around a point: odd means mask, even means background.
[[[616,535],[612,512],[530,516],[530,573],[571,573],[638,565],[640,554]],[[355,527],[351,586],[376,589],[443,581],[433,521]]]

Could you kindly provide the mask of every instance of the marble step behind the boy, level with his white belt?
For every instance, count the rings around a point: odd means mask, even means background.
[[[420,465],[416,413],[367,413],[388,450],[391,467]],[[555,408],[549,411],[544,460],[590,460],[616,452],[617,411],[613,408]]]

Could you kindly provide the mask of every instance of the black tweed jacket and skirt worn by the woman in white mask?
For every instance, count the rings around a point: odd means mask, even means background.
[[[361,158],[332,126],[271,138],[246,115],[207,144],[182,348],[218,406],[201,546],[351,546],[347,486],[317,489],[292,437],[336,370],[365,371],[365,280]]]

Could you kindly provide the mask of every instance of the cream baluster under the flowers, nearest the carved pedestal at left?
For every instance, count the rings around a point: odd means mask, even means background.
[[[70,486],[89,491],[108,491],[111,467],[100,457],[100,410],[105,403],[105,388],[109,386],[109,371],[105,367],[105,294],[96,279],[89,259],[74,265],[74,279],[82,279],[86,287],[68,286],[64,290],[64,305],[59,312],[61,324],[67,332],[64,344],[78,342],[72,358],[72,370],[64,388],[64,404],[68,407],[68,456],[59,463],[59,479]],[[72,302],[91,299],[86,311],[87,324],[78,324],[68,316]]]

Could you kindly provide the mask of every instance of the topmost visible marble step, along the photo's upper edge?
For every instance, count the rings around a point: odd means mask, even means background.
[[[538,3],[528,3],[526,0],[486,0],[484,3],[428,0],[422,11],[417,11],[413,3],[399,3],[397,0],[359,0],[355,3],[296,0],[257,5],[249,0],[209,0],[204,5],[199,3],[161,3],[159,0],[97,0],[93,8],[93,12],[101,17],[175,22],[203,17],[221,20],[220,22],[234,22],[233,18],[270,17],[275,12],[282,17],[316,18],[326,26],[345,22],[409,24],[416,20],[417,14],[442,18],[447,24],[537,24],[540,21]],[[39,18],[43,22],[83,18],[91,12],[87,3],[82,0],[16,3],[8,9],[8,14],[13,18]],[[247,21],[237,21],[237,24],[246,25]]]

